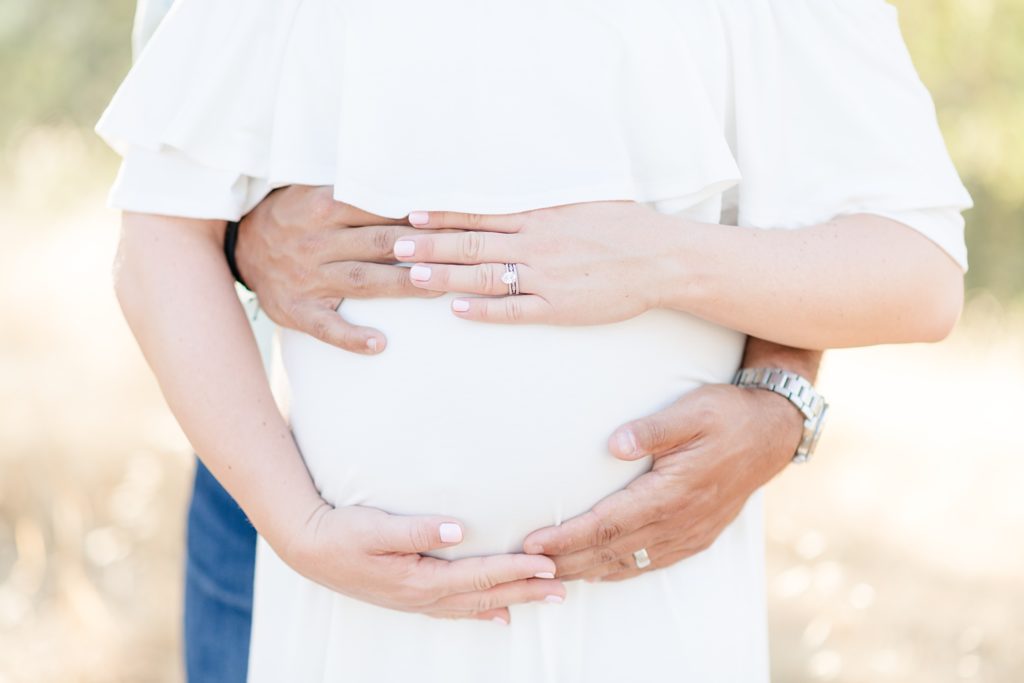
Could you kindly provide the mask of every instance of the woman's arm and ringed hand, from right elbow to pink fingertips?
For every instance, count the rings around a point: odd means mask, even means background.
[[[765,230],[697,223],[630,202],[504,216],[414,213],[395,244],[429,290],[503,295],[517,263],[525,296],[465,298],[460,317],[598,325],[672,308],[798,348],[936,341],[963,303],[963,272],[912,228],[876,215]],[[424,230],[427,231],[426,229]]]

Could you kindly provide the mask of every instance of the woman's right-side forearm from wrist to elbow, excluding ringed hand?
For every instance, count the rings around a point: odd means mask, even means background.
[[[963,306],[959,266],[881,216],[798,229],[679,227],[667,231],[658,306],[753,337],[799,348],[939,341]]]

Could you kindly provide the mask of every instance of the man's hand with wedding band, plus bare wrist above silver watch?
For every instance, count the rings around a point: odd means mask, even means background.
[[[783,367],[813,378],[817,351],[750,339],[745,367]],[[623,460],[654,456],[650,472],[559,526],[526,537],[561,580],[617,581],[675,564],[711,546],[751,494],[782,470],[803,416],[770,391],[707,385],[666,410],[620,427],[608,440]],[[646,548],[651,565],[633,553]]]

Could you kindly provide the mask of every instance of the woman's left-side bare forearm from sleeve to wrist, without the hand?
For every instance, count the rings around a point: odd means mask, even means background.
[[[324,505],[279,412],[220,244],[223,221],[126,213],[118,299],[193,446],[282,551]]]

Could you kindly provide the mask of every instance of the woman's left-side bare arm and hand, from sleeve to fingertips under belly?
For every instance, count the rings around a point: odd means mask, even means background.
[[[164,396],[203,462],[297,571],[374,604],[434,616],[503,618],[507,605],[564,596],[551,559],[447,562],[440,515],[328,505],[278,410],[224,260],[222,221],[126,213],[118,299]]]

